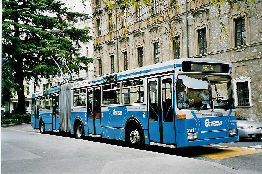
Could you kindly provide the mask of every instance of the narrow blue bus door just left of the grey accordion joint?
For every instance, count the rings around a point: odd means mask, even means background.
[[[59,130],[59,94],[52,96],[52,127]]]

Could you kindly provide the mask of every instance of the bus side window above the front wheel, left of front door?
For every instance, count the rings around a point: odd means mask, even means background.
[[[133,80],[122,83],[122,103],[134,104],[144,102],[144,80]]]

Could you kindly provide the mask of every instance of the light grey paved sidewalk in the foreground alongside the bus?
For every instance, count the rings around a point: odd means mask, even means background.
[[[30,124],[1,129],[2,173],[240,172],[209,161],[39,134]]]

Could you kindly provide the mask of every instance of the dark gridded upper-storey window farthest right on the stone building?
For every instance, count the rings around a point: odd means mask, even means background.
[[[236,47],[246,44],[245,17],[235,19],[235,40]]]

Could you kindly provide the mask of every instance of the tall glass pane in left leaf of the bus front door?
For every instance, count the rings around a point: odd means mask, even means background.
[[[157,98],[157,81],[148,83],[148,100],[149,100],[149,119],[158,121],[158,98]]]

